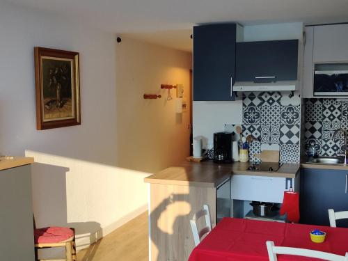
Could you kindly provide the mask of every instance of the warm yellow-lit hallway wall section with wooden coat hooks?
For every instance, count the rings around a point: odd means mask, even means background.
[[[116,44],[118,166],[154,173],[189,156],[189,108],[175,112],[161,84],[183,84],[189,104],[191,54],[122,37]],[[144,93],[161,99],[144,100]]]

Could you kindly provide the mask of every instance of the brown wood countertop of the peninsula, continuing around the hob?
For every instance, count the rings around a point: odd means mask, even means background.
[[[246,171],[250,163],[235,162],[233,164],[215,164],[212,161],[184,161],[178,166],[172,166],[145,177],[146,183],[173,184],[181,186],[217,187],[230,175],[260,175],[266,177],[296,177],[300,164],[283,164],[274,173]]]

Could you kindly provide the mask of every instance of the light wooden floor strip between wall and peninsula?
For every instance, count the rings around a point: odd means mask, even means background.
[[[89,248],[78,261],[148,261],[148,212],[144,212]]]

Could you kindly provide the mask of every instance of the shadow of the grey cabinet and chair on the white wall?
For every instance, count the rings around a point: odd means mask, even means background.
[[[33,187],[33,215],[37,228],[47,226],[63,226],[74,228],[79,247],[86,247],[102,238],[102,229],[97,222],[68,222],[66,175],[69,168],[50,164],[34,163],[31,166]],[[44,208],[44,209],[42,209]],[[40,209],[40,210],[39,210]],[[40,214],[38,214],[40,212]],[[94,231],[94,232],[91,232]],[[91,253],[93,258],[96,247]],[[40,249],[39,258],[61,258],[65,253],[64,248]]]

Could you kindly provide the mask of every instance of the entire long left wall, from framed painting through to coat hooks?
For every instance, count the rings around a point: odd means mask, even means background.
[[[189,54],[125,40],[116,72],[112,33],[3,1],[0,35],[0,152],[35,158],[36,225],[75,227],[81,246],[145,211],[143,178],[188,155],[189,130],[180,135],[188,112],[177,116],[164,91],[157,101],[142,95],[161,83],[188,93]],[[36,130],[35,46],[79,52],[80,126]]]

